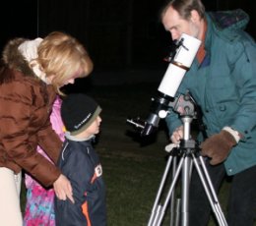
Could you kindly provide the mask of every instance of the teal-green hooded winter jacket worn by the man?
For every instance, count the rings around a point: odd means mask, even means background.
[[[226,20],[237,20],[230,17],[233,13],[242,19],[235,23]],[[224,15],[207,14],[207,54],[201,65],[194,60],[176,94],[190,91],[202,108],[208,137],[220,133],[224,126],[243,135],[224,161],[226,173],[233,175],[256,165],[256,45],[242,29],[249,20],[244,12]],[[218,18],[221,21],[217,22]],[[173,112],[165,120],[170,134],[182,124]]]

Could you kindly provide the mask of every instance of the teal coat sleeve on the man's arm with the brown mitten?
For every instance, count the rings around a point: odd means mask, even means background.
[[[254,41],[243,40],[229,51],[230,71],[239,91],[239,109],[231,126],[251,137],[256,128],[256,45]]]

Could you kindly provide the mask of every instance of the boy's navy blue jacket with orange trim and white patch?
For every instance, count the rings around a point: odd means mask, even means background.
[[[92,140],[66,139],[58,166],[71,182],[75,204],[55,198],[56,226],[105,226],[105,186]]]

